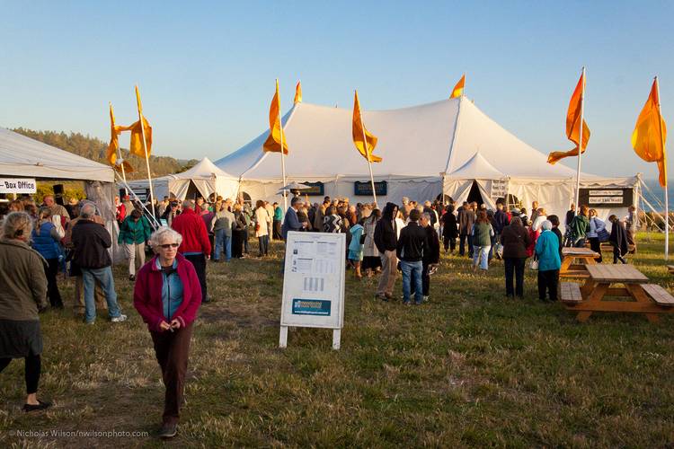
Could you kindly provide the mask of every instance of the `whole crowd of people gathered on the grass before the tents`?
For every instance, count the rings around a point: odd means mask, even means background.
[[[599,253],[610,242],[614,263],[625,263],[635,251],[638,218],[634,207],[624,222],[609,216],[611,231],[597,211],[581,206],[564,217],[547,215],[534,202],[524,208],[495,210],[464,202],[457,207],[439,201],[417,203],[403,198],[388,202],[350,204],[348,198],[325,197],[309,204],[296,196],[284,211],[278,203],[243,198],[179,201],[164,198],[146,207],[129,196],[115,198],[119,224],[117,242],[128,260],[134,282],[133,304],[146,322],[164,386],[160,435],[176,433],[189,359],[192,323],[201,304],[208,303],[207,264],[248,257],[249,240],[257,238],[257,257],[269,256],[270,240],[286,240],[290,231],[344,233],[343,255],[357,279],[378,276],[375,297],[395,301],[395,280],[402,276],[405,305],[429,301],[430,279],[439,268],[440,248],[469,257],[474,271],[489,270],[503,260],[505,293],[524,296],[527,260],[537,269],[538,298],[555,301],[563,246],[584,246]],[[150,212],[152,210],[152,213]],[[112,273],[112,237],[95,204],[69,201],[66,206],[46,196],[40,205],[31,198],[14,200],[2,218],[0,235],[0,371],[13,358],[24,358],[27,397],[23,409],[49,408],[37,398],[42,337],[39,313],[49,304],[63,308],[58,273],[75,278],[75,313],[94,324],[97,308],[107,310],[112,323],[127,320],[117,301]],[[626,227],[625,227],[626,225]],[[442,242],[442,245],[440,244]],[[152,250],[146,261],[147,250]]]

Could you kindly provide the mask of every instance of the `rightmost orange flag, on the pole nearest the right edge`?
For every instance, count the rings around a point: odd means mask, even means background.
[[[662,119],[660,98],[658,96],[658,78],[653,80],[651,94],[643,105],[643,110],[636,119],[632,133],[634,152],[647,163],[658,163],[660,185],[667,186],[667,125]]]

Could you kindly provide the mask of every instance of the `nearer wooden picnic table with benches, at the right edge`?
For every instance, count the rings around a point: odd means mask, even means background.
[[[587,321],[594,312],[628,312],[644,313],[657,322],[659,313],[674,312],[674,297],[661,286],[648,284],[648,277],[634,265],[595,264],[586,269],[590,277],[580,287],[580,296],[577,285],[564,283],[562,289],[563,294],[569,291],[563,304],[578,312],[578,321]],[[606,301],[607,297],[612,300]]]

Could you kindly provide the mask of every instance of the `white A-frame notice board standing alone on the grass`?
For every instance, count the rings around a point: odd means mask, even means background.
[[[343,233],[288,232],[279,348],[288,346],[288,327],[332,329],[333,349],[340,348],[345,258]]]

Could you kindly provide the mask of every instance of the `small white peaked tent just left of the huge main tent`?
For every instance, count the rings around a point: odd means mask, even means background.
[[[129,181],[131,189],[147,189],[147,180]],[[155,197],[163,198],[174,196],[175,198],[193,198],[199,193],[203,198],[208,198],[212,193],[223,198],[235,198],[239,189],[239,180],[234,176],[219,169],[214,163],[204,157],[199,163],[185,172],[170,174],[152,180],[155,189]]]

